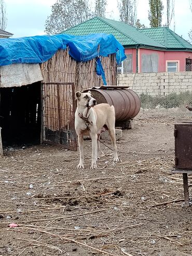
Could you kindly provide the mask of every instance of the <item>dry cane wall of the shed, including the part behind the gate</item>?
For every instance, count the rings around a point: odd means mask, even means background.
[[[105,72],[107,85],[116,85],[116,56],[102,57],[101,63]],[[44,83],[74,83],[75,91],[83,91],[94,86],[102,86],[103,79],[98,76],[95,59],[87,62],[77,62],[69,54],[68,49],[59,50],[48,61],[41,64]],[[66,127],[71,120],[68,120],[66,114],[62,120],[59,118],[59,111],[62,113],[71,113],[75,110],[72,106],[71,92],[69,86],[60,86],[58,95],[57,85],[46,87],[43,91],[43,98],[48,99],[46,107],[43,105],[45,112],[45,126],[51,130],[57,130],[60,126]],[[61,99],[58,103],[58,99]],[[49,104],[47,106],[47,104]],[[71,115],[73,116],[73,115]],[[61,124],[59,124],[61,122]],[[61,127],[60,127],[61,128]]]

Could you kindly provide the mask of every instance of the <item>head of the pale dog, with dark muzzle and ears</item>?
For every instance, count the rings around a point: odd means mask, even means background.
[[[91,92],[80,92],[75,93],[76,99],[78,100],[79,105],[84,107],[91,107],[96,105],[97,101],[92,97]]]

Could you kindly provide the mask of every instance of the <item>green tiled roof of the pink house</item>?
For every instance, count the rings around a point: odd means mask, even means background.
[[[192,45],[169,28],[136,29],[121,21],[94,17],[63,31],[64,34],[86,35],[92,33],[113,34],[125,47],[139,45],[143,48],[192,50]]]

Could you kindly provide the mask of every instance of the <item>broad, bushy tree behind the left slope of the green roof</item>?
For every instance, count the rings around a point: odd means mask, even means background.
[[[57,0],[45,22],[47,34],[57,34],[93,17],[88,0]]]

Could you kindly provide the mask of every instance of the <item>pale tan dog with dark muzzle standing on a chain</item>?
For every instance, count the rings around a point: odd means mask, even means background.
[[[84,136],[90,136],[92,141],[92,163],[90,169],[97,169],[100,152],[101,132],[108,130],[112,140],[114,161],[119,161],[115,139],[115,108],[107,103],[97,105],[91,92],[75,93],[77,109],[75,112],[75,130],[79,145],[78,169],[84,169]]]

